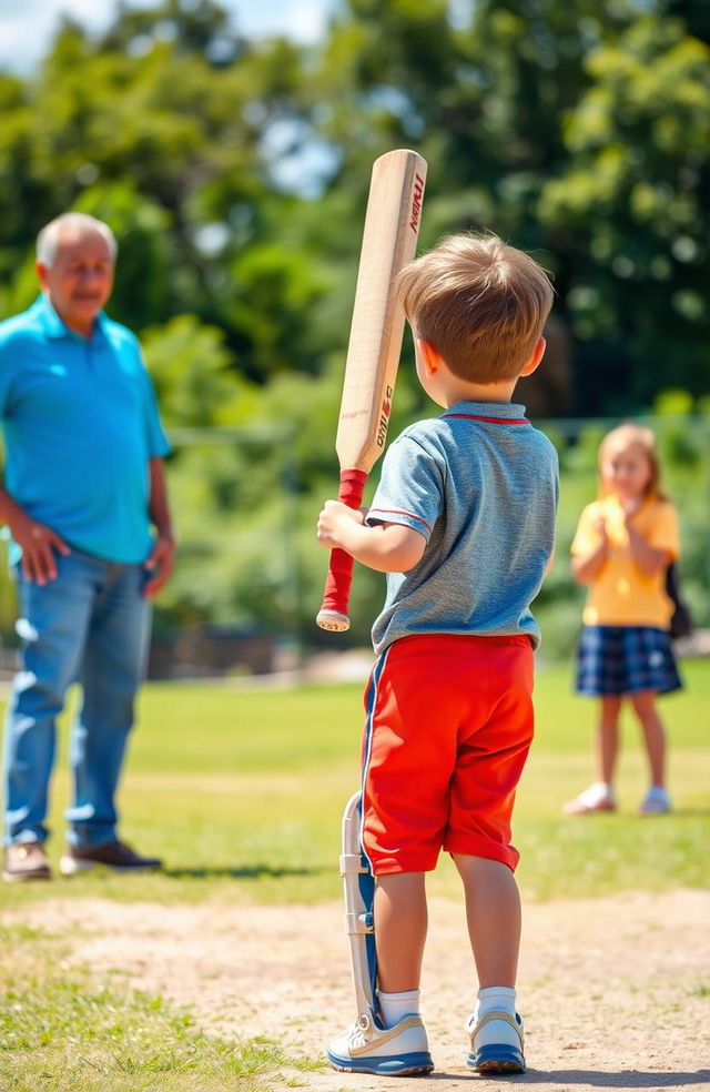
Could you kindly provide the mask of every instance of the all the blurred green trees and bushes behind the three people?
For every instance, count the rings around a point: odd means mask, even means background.
[[[326,556],[313,524],[336,491],[369,171],[398,145],[429,162],[423,246],[490,228],[554,271],[572,376],[552,412],[656,406],[683,576],[710,621],[707,416],[692,416],[708,412],[704,8],[345,0],[304,49],[247,41],[214,0],[155,0],[119,6],[102,37],[64,20],[37,72],[0,73],[0,315],[33,300],[49,219],[75,208],[112,224],[109,310],[142,336],[176,445],[182,548],[163,630],[219,620],[314,639]],[[393,434],[432,412],[409,364],[406,342]],[[184,432],[206,427],[221,432]],[[548,427],[562,501],[538,608],[561,651],[581,601],[567,549],[604,426]],[[355,588],[347,639],[361,643],[382,577],[358,570]]]

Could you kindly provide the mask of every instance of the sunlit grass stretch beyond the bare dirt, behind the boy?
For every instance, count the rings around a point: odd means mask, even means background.
[[[537,736],[518,793],[518,877],[528,899],[657,890],[706,880],[710,830],[710,663],[689,663],[687,688],[662,700],[670,739],[671,816],[639,820],[646,788],[638,728],[623,722],[620,812],[569,820],[561,803],[591,776],[595,702],[570,691],[569,671],[538,673]],[[195,901],[311,902],[339,894],[339,816],[357,788],[362,687],[248,689],[152,684],[140,702],[121,791],[122,832],[164,857],[163,876],[88,876],[73,896]],[[50,842],[61,852],[67,724],[54,782]],[[443,860],[432,890],[452,888]],[[13,906],[55,884],[3,890]]]

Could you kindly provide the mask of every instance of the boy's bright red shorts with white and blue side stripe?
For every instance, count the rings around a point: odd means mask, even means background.
[[[362,842],[375,876],[426,872],[442,849],[501,861],[532,741],[527,637],[405,637],[365,692]]]

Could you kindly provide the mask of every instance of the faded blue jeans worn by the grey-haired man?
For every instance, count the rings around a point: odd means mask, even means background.
[[[150,609],[141,565],[114,565],[73,550],[57,557],[44,587],[17,573],[22,670],[6,719],[4,842],[44,841],[55,720],[71,683],[83,699],[71,729],[69,842],[112,841],[114,797],[143,677]]]

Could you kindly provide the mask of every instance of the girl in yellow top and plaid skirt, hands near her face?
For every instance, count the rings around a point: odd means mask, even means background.
[[[651,785],[639,815],[670,811],[666,735],[659,694],[680,678],[668,627],[672,614],[666,569],[678,557],[676,509],[660,489],[653,434],[620,425],[599,448],[599,499],[587,505],[572,542],[572,569],[589,585],[578,653],[577,690],[600,699],[598,780],[565,805],[567,815],[613,811],[613,774],[623,698],[643,730]]]

